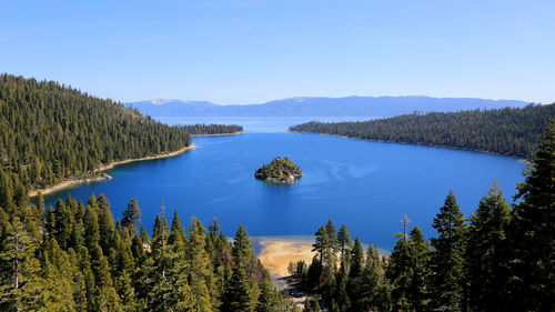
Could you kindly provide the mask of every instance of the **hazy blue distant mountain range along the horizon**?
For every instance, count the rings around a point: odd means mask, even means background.
[[[290,98],[262,104],[220,105],[206,101],[149,100],[128,103],[151,117],[393,117],[418,112],[522,108],[516,100],[430,97]]]

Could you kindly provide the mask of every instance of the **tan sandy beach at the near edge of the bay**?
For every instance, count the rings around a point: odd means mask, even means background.
[[[261,245],[260,262],[275,278],[290,275],[287,266],[291,261],[304,260],[306,264],[310,264],[315,254],[312,252],[313,239],[262,238],[259,243]]]

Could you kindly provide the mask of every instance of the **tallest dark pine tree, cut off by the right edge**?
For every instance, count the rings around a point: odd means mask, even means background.
[[[526,180],[518,184],[522,199],[512,213],[513,308],[555,310],[555,120],[545,130]]]

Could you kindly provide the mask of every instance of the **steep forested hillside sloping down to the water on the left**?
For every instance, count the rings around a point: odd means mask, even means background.
[[[186,131],[52,81],[0,76],[1,170],[38,189],[100,164],[172,152]],[[20,187],[21,188],[21,187]]]

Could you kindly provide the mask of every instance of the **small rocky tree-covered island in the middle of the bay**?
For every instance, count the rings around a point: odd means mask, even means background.
[[[303,177],[301,169],[289,158],[276,157],[269,164],[263,164],[254,173],[254,178],[266,182],[291,184]]]

